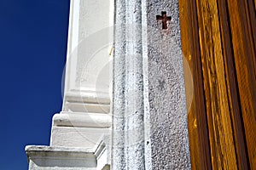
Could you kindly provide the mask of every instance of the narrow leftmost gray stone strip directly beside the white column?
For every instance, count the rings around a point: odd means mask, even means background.
[[[113,51],[113,139],[111,169],[125,169],[125,0],[115,2],[116,26]]]

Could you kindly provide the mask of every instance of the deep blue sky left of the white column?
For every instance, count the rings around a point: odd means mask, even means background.
[[[0,0],[1,170],[27,169],[61,111],[69,0]]]

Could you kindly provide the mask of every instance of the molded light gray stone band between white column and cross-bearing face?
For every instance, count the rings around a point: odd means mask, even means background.
[[[116,1],[113,169],[145,169],[142,4]]]

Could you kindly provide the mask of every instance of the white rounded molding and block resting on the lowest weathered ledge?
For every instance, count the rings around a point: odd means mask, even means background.
[[[110,128],[108,114],[61,112],[53,117],[50,145],[94,149]]]

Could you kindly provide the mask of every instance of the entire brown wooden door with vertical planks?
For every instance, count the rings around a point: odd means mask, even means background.
[[[255,0],[180,0],[193,169],[256,169]]]

